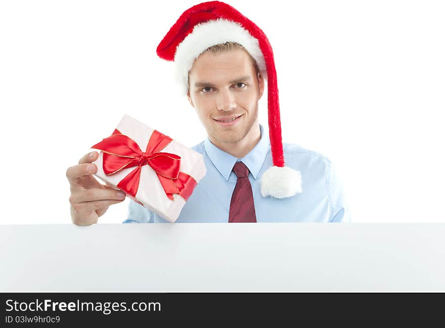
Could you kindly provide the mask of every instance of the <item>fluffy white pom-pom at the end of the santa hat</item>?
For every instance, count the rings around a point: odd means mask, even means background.
[[[272,166],[261,176],[261,196],[275,198],[292,197],[301,193],[301,173],[290,167]]]

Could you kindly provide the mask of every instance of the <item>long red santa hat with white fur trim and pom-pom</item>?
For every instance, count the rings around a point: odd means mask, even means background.
[[[273,166],[261,176],[261,195],[287,198],[301,193],[301,174],[284,166],[281,138],[277,72],[272,46],[264,32],[235,8],[219,2],[205,2],[186,10],[159,43],[158,56],[176,64],[176,78],[188,91],[188,74],[210,46],[233,41],[241,44],[268,80],[269,138]]]

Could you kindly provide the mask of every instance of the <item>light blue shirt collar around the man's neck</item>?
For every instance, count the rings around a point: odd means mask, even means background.
[[[253,178],[256,180],[259,170],[261,169],[266,155],[268,154],[270,145],[269,136],[265,135],[264,128],[261,124],[259,124],[259,129],[261,132],[261,138],[259,139],[258,144],[256,144],[256,146],[246,156],[240,159],[220,150],[218,147],[213,145],[208,136],[205,139],[205,151],[213,165],[216,167],[219,173],[224,176],[226,181],[229,181],[230,173],[232,172],[233,166],[237,161],[242,161],[247,166],[250,173],[252,173]]]

